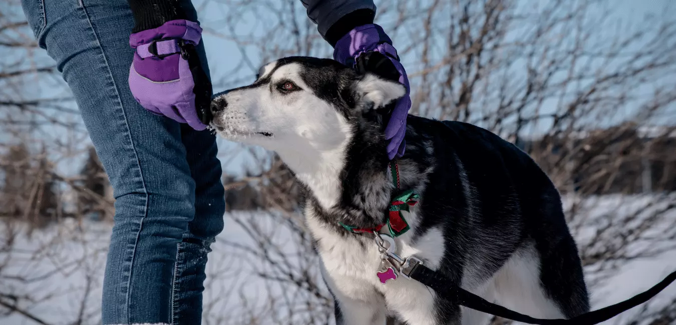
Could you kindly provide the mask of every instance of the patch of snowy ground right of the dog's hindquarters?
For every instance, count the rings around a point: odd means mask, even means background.
[[[566,206],[570,207],[571,198],[565,200]],[[634,295],[646,291],[657,284],[671,272],[676,270],[676,209],[673,204],[676,196],[666,195],[607,195],[603,197],[587,198],[582,203],[584,218],[570,222],[571,228],[577,224],[581,227],[576,234],[578,246],[589,245],[598,236],[598,229],[604,226],[619,228],[625,225],[631,229],[642,229],[650,223],[650,227],[643,230],[642,236],[632,241],[625,247],[627,255],[639,255],[629,261],[620,261],[616,269],[610,272],[602,272],[603,279],[596,286],[592,286],[592,309],[600,309],[614,303],[629,299]],[[665,211],[657,214],[658,220],[652,220],[656,216],[655,211]],[[608,221],[610,220],[610,221]],[[631,232],[626,232],[631,234]],[[620,230],[610,232],[608,236],[620,236]],[[612,241],[602,241],[612,243]],[[600,274],[595,274],[595,265],[585,268],[587,282],[594,280]],[[643,308],[660,310],[676,301],[676,284],[671,284],[664,291],[650,299],[644,305],[625,311],[617,318],[601,324],[629,324],[632,317],[639,315]],[[646,313],[642,314],[645,315]],[[648,324],[650,319],[641,320],[639,324]],[[666,324],[666,323],[660,323]]]

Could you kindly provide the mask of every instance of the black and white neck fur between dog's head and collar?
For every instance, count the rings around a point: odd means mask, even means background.
[[[306,187],[306,205],[327,224],[370,228],[383,224],[394,189],[388,169],[387,141],[380,120],[360,116],[348,123],[351,134],[339,147],[313,157],[278,151]],[[399,164],[408,164],[400,159]],[[412,184],[402,182],[402,188]]]

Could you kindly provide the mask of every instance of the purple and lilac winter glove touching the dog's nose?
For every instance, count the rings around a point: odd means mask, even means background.
[[[212,86],[195,51],[201,32],[196,22],[171,20],[129,36],[136,49],[129,69],[134,98],[153,114],[195,130],[204,130],[211,116]]]

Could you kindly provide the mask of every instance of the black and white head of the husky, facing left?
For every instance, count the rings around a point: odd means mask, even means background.
[[[211,126],[226,139],[279,153],[331,151],[349,141],[368,111],[405,92],[332,59],[286,57],[263,66],[253,84],[216,95]]]

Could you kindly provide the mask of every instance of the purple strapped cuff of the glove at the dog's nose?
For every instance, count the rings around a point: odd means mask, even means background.
[[[129,36],[129,45],[137,49],[141,45],[150,44],[160,39],[180,39],[192,45],[199,44],[202,37],[202,28],[199,23],[179,19],[165,22],[158,28],[141,30]]]

